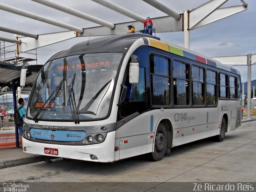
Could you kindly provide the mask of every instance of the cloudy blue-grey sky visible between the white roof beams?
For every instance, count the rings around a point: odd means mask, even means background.
[[[112,23],[128,22],[132,19],[122,16],[108,8],[105,8],[91,0],[54,0],[55,2],[70,6],[92,16],[107,20]],[[145,18],[166,16],[161,11],[149,6],[142,0],[111,0],[112,2],[131,10]],[[184,10],[192,10],[208,0],[159,0],[178,13]],[[236,56],[256,53],[256,0],[246,0],[248,10],[240,12],[228,18],[224,18],[212,24],[202,26],[190,31],[190,49],[206,56]],[[48,18],[66,22],[81,28],[96,26],[92,22],[70,16],[66,13],[54,10],[30,0],[0,0],[0,3],[14,6],[29,12],[33,12]],[[224,6],[240,5],[240,0],[229,0]],[[136,6],[135,6],[136,5]],[[0,10],[0,26],[33,34],[64,31],[65,29],[45,24],[36,20],[18,16]],[[154,20],[153,20],[154,22]],[[157,30],[157,29],[156,29]],[[0,36],[13,38],[13,34],[0,32]],[[183,32],[157,33],[156,36],[183,46]],[[66,40],[57,44],[37,49],[38,64],[44,64],[56,52],[70,48],[72,45],[88,40],[87,37]],[[22,56],[22,55],[21,55]],[[236,66],[241,73],[242,82],[247,81],[247,66]],[[252,66],[252,80],[256,79],[256,65]]]

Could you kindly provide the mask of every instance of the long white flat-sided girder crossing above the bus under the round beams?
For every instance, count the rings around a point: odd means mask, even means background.
[[[182,31],[182,19],[176,20],[170,16],[164,16],[160,18],[152,18],[152,20],[154,22],[154,28],[157,29],[157,32]],[[23,42],[19,46],[19,51],[26,52],[28,50],[33,50],[75,37],[126,34],[128,32],[127,25],[130,23],[134,25],[135,31],[144,29],[141,22],[130,21],[115,24],[114,29],[104,26],[84,28],[84,32],[81,34],[76,34],[74,31],[62,31],[49,34],[39,34],[37,40],[28,37],[19,37],[18,39]]]

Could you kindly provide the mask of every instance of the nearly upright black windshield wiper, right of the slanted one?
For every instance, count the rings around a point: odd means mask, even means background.
[[[74,90],[73,90],[75,77],[76,77],[76,74],[74,74],[74,77],[71,80],[70,86],[68,86],[68,102],[70,103],[70,111],[72,114],[73,121],[75,122],[75,124],[80,124],[78,115],[76,112],[76,99],[75,99]]]

